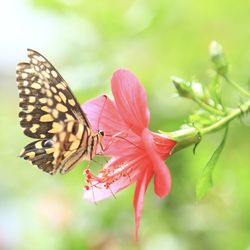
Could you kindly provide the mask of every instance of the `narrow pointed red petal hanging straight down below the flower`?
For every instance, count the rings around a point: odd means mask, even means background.
[[[138,232],[140,226],[140,219],[142,216],[144,194],[147,190],[148,184],[153,176],[153,171],[147,168],[146,172],[136,182],[134,193],[134,211],[135,211],[135,237],[138,240]]]

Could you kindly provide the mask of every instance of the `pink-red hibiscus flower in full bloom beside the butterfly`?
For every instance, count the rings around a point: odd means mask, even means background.
[[[93,130],[104,131],[105,156],[112,157],[95,176],[86,170],[88,186],[84,197],[92,202],[114,195],[136,183],[134,210],[136,238],[144,194],[154,177],[154,191],[163,198],[171,188],[171,176],[164,160],[175,141],[148,129],[150,113],[147,96],[137,78],[117,70],[111,79],[114,100],[100,96],[83,105]]]

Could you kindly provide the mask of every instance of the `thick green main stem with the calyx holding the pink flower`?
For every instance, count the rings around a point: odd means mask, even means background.
[[[227,116],[221,118],[219,121],[208,127],[200,129],[192,127],[167,133],[166,135],[169,138],[177,142],[176,146],[172,150],[172,153],[175,153],[190,145],[199,143],[203,135],[213,133],[224,128],[225,125],[228,125],[232,120],[240,117],[248,111],[250,111],[250,100],[241,104],[239,108],[231,110]]]

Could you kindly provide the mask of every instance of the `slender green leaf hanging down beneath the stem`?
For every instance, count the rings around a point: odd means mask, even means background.
[[[213,171],[214,167],[220,157],[221,151],[224,148],[228,133],[228,127],[225,129],[225,134],[220,145],[214,151],[212,157],[204,167],[201,177],[196,185],[196,200],[201,200],[213,186]]]

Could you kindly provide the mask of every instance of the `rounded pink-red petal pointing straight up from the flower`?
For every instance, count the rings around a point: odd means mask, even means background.
[[[144,88],[128,70],[117,70],[111,80],[117,108],[127,126],[140,135],[148,127],[149,110]]]

